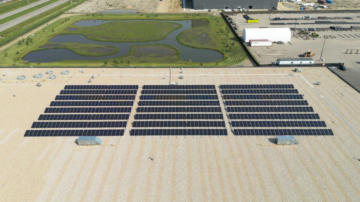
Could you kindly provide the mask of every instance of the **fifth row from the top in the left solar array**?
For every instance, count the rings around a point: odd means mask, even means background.
[[[44,113],[130,113],[131,107],[46,107]]]

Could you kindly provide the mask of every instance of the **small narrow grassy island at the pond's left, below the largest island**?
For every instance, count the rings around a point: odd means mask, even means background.
[[[87,44],[87,43],[48,43],[47,45],[55,45],[57,47],[40,47],[39,50],[45,49],[68,49],[74,51],[76,54],[84,56],[103,56],[111,55],[119,51],[116,46],[107,46],[100,44]]]

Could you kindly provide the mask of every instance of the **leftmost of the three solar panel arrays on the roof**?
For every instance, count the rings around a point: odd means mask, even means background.
[[[123,136],[137,90],[138,85],[67,85],[24,136]]]

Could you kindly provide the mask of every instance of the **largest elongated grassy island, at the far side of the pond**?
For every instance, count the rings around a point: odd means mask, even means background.
[[[106,42],[158,41],[182,26],[172,22],[111,22],[93,27],[72,25],[59,34],[78,34]]]

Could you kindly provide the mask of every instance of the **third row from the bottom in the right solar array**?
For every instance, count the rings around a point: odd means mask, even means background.
[[[320,119],[318,114],[229,114],[230,119]]]

